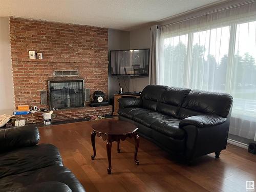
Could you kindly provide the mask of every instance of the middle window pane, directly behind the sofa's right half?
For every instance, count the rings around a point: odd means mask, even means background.
[[[193,89],[225,91],[230,27],[193,33],[188,86]]]

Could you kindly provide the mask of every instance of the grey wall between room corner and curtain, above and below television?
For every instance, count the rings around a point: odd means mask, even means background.
[[[130,32],[130,49],[150,48],[150,26]],[[148,77],[131,78],[130,92],[140,92],[148,85]]]

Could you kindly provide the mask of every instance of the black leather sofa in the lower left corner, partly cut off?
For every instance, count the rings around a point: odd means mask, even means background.
[[[34,125],[0,130],[0,191],[85,191],[57,147],[39,139]]]

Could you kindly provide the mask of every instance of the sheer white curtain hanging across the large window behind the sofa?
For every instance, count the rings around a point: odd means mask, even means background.
[[[256,140],[256,3],[159,33],[157,84],[231,94],[229,133]]]

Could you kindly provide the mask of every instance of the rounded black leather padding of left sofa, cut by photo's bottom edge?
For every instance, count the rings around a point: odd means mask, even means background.
[[[28,185],[26,187],[19,188],[15,192],[72,192],[68,185],[65,183],[49,181]]]

